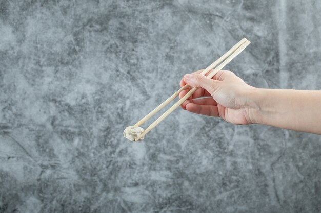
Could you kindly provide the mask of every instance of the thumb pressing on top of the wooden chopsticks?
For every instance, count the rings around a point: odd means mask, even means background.
[[[215,92],[219,82],[200,74],[186,74],[184,76],[184,81],[192,87],[204,88],[210,94]]]

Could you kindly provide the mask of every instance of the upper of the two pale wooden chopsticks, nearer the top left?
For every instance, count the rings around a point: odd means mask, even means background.
[[[206,75],[211,69],[213,69],[217,64],[219,64],[220,62],[222,62],[224,59],[226,59],[228,56],[230,56],[235,50],[237,50],[240,45],[242,45],[244,42],[246,42],[247,39],[243,38],[242,40],[240,40],[237,44],[235,44],[228,52],[226,52],[223,56],[221,56],[219,59],[217,59],[216,61],[214,61],[211,65],[209,65],[206,69],[204,69],[202,71],[202,75]],[[182,88],[178,89],[174,94],[172,94],[171,97],[169,97],[166,101],[164,101],[162,104],[160,104],[159,106],[157,106],[155,109],[153,109],[153,111],[151,111],[150,113],[148,113],[145,117],[143,117],[143,119],[141,119],[140,121],[138,121],[134,126],[138,127],[141,126],[142,124],[144,124],[148,119],[150,119],[154,114],[156,114],[159,110],[163,109],[167,104],[169,104],[171,101],[173,101],[178,94],[189,88],[189,85],[185,85]]]

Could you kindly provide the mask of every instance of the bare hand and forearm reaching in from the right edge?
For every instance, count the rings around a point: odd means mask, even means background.
[[[207,78],[198,70],[186,74],[180,87],[199,88],[181,107],[232,124],[265,124],[321,134],[321,91],[255,88],[234,73],[220,70]],[[190,89],[179,94],[182,98]]]

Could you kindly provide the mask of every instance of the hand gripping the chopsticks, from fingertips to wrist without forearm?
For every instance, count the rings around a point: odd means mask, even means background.
[[[202,71],[186,74],[180,81],[180,87],[188,84],[199,88],[181,107],[193,113],[221,117],[233,124],[252,124],[250,119],[252,103],[248,94],[253,93],[255,88],[231,71],[220,70],[212,79],[200,75]],[[185,96],[189,90],[180,92],[179,98]]]

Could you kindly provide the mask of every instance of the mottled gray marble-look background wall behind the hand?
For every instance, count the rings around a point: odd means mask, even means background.
[[[122,135],[243,37],[227,69],[250,85],[321,89],[320,14],[316,0],[0,0],[0,212],[321,212],[318,135],[182,109],[143,142]]]

